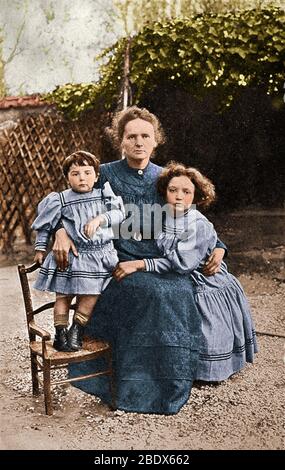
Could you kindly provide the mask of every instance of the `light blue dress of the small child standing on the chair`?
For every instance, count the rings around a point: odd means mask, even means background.
[[[87,238],[85,224],[102,213],[105,223],[98,227],[92,239]],[[32,225],[37,231],[35,249],[46,250],[50,235],[61,220],[78,250],[78,256],[70,252],[68,268],[59,271],[53,252],[49,252],[34,287],[63,294],[100,294],[111,281],[118,263],[112,240],[115,227],[123,218],[123,201],[115,196],[109,183],[102,190],[77,193],[67,189],[45,197],[38,206],[38,215]]]

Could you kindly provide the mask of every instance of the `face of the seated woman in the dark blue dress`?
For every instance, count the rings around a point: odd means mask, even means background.
[[[132,168],[145,168],[157,146],[153,125],[144,119],[129,121],[124,130],[121,149]]]

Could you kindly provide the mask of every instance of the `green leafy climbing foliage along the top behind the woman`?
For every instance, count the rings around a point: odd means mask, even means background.
[[[282,92],[285,65],[285,13],[268,7],[204,13],[146,26],[131,41],[130,81],[135,101],[161,83],[172,82],[196,97],[213,93],[229,106],[244,87]],[[105,51],[97,84],[65,85],[49,95],[76,117],[101,97],[118,101],[127,39]]]

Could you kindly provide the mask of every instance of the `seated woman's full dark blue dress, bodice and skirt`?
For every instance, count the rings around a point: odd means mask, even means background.
[[[161,257],[149,209],[163,204],[156,190],[161,171],[152,162],[143,171],[130,168],[126,160],[101,165],[100,183],[110,182],[124,201],[126,215],[128,205],[140,209],[133,236],[115,241],[121,261]],[[143,207],[149,217],[143,218]],[[112,343],[118,409],[173,414],[187,402],[196,377],[201,316],[186,276],[136,272],[121,282],[113,279],[100,296],[86,334]],[[73,364],[70,375],[94,372],[98,362]],[[106,377],[76,386],[111,402]]]

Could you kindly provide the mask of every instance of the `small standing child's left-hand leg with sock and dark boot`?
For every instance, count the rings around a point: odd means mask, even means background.
[[[55,326],[53,347],[57,351],[70,351],[68,346],[67,326],[69,308],[73,297],[74,295],[56,293],[56,300],[53,311]]]

